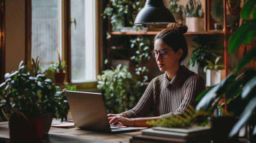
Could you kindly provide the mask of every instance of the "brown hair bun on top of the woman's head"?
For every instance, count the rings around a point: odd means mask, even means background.
[[[188,26],[182,20],[176,20],[176,23],[170,23],[166,27],[167,29],[172,29],[177,33],[184,34],[188,31]]]

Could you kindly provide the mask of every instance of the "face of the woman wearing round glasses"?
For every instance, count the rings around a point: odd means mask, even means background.
[[[179,59],[183,52],[182,49],[178,50],[177,52],[174,52],[173,49],[171,47],[167,46],[162,40],[157,39],[154,44],[154,50],[168,51],[168,52],[166,52],[165,57],[162,57],[160,55],[160,53],[158,52],[157,57],[155,58],[160,71],[168,72],[168,71],[171,71],[171,70],[177,68],[177,66],[180,66]]]

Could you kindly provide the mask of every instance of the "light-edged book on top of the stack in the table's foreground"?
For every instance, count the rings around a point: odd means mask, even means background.
[[[148,136],[162,136],[169,138],[188,139],[194,137],[202,137],[210,135],[209,127],[189,127],[189,128],[164,128],[164,127],[153,127],[145,130],[141,130],[142,135]]]

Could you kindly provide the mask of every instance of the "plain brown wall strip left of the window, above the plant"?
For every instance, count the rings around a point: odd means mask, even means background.
[[[25,0],[5,0],[5,72],[25,61]]]

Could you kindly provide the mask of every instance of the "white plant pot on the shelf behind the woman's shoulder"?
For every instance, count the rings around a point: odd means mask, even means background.
[[[225,70],[206,70],[206,86],[215,86],[225,79]]]

